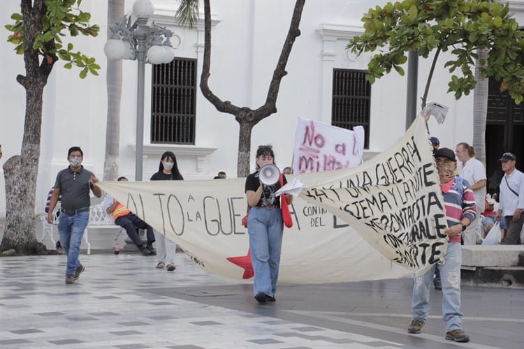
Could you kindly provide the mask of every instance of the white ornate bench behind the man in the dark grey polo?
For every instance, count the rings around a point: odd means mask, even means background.
[[[43,213],[40,215],[42,221],[42,237],[40,242],[43,242],[45,237],[49,237],[53,243],[53,246],[56,245],[56,242],[53,238],[53,225],[58,225],[57,211],[59,207],[54,209],[53,214],[53,223],[48,223],[48,214]],[[84,231],[84,241],[87,244],[87,254],[91,254],[91,244],[89,243],[89,229],[116,229],[118,232],[122,231],[122,227],[115,224],[115,220],[112,218],[112,215],[107,214],[103,208],[103,202],[99,205],[94,205],[89,207],[89,223]]]

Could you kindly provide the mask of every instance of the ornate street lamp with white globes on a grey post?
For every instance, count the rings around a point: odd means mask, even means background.
[[[136,98],[136,164],[135,180],[141,181],[143,174],[144,151],[144,84],[145,63],[163,64],[173,61],[175,52],[170,38],[173,32],[152,22],[147,25],[154,13],[150,0],[136,0],[133,15],[136,22],[131,24],[131,16],[124,15],[118,23],[110,27],[112,38],[105,43],[103,51],[109,59],[136,59],[138,61],[138,88]]]

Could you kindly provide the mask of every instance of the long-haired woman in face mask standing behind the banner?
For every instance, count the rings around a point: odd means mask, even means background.
[[[159,164],[159,172],[151,176],[152,181],[182,181],[184,177],[178,171],[177,157],[172,151],[162,154]],[[157,241],[157,268],[164,267],[168,272],[173,272],[175,267],[175,251],[177,245],[167,239],[163,232],[154,230],[154,237]]]

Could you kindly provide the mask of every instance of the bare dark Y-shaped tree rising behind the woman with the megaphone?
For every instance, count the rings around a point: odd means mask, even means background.
[[[205,98],[208,99],[219,112],[232,114],[238,124],[240,124],[237,161],[238,177],[247,177],[249,174],[249,153],[251,151],[251,134],[253,127],[266,117],[277,112],[276,103],[280,82],[282,81],[282,77],[287,75],[286,64],[289,59],[289,54],[291,53],[296,38],[300,36],[300,29],[298,29],[298,27],[302,18],[304,3],[305,0],[296,0],[289,31],[284,40],[284,45],[282,45],[282,51],[269,84],[265,103],[256,109],[252,109],[250,107],[233,105],[230,101],[222,101],[209,87],[208,82],[211,75],[211,7],[210,0],[204,0],[204,60],[200,88]],[[192,25],[196,22],[197,15],[198,1],[182,0],[180,8],[177,11],[180,22],[189,22],[189,24]]]

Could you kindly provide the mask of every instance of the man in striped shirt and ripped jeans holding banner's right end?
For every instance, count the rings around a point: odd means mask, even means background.
[[[460,313],[460,265],[462,263],[460,234],[476,218],[475,196],[470,184],[454,174],[457,169],[457,161],[453,150],[439,148],[435,151],[434,156],[448,224],[444,235],[449,237],[448,248],[444,253],[445,262],[439,265],[442,279],[442,320],[446,324],[446,339],[467,342],[470,341],[470,336],[462,329],[463,314]],[[425,274],[414,276],[413,320],[407,327],[409,333],[419,334],[425,320],[428,320],[430,285],[434,271],[435,266]]]

